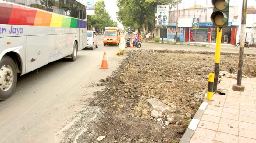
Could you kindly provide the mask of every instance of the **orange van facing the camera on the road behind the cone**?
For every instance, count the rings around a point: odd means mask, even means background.
[[[103,45],[119,45],[120,32],[117,27],[105,27],[103,34]]]

